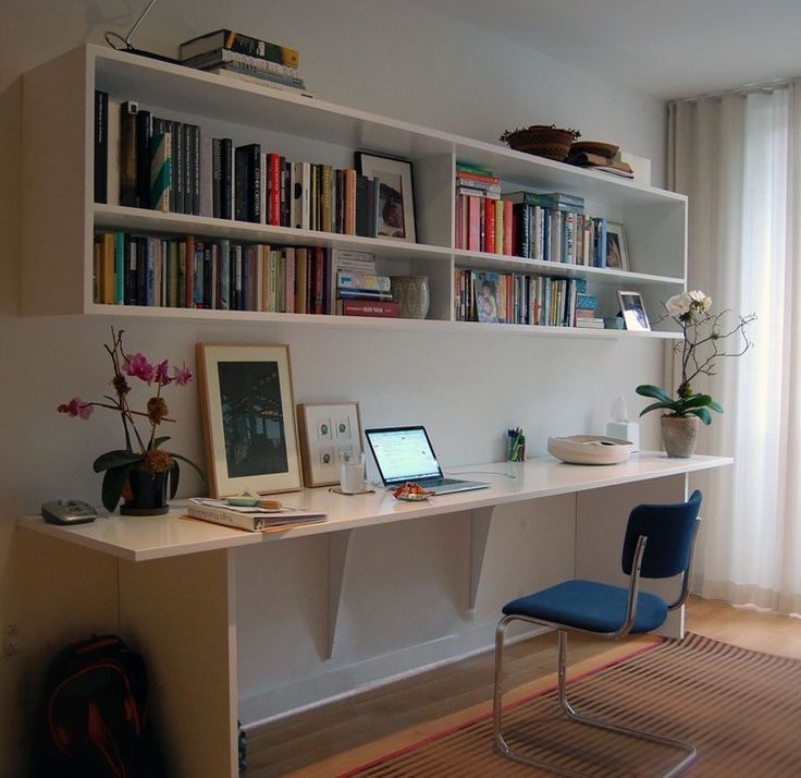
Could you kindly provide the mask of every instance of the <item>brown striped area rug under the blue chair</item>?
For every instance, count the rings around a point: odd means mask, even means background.
[[[688,634],[664,641],[569,684],[588,716],[693,742],[686,775],[801,776],[801,661]],[[676,751],[567,720],[554,689],[505,708],[507,742],[522,753],[587,776],[661,775]],[[491,713],[451,726],[344,776],[545,775],[494,749]]]

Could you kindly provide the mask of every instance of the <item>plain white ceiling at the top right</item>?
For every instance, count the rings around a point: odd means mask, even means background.
[[[419,0],[662,99],[801,76],[801,0]]]

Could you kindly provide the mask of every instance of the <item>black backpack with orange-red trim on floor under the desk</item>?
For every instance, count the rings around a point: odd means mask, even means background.
[[[145,661],[116,635],[63,648],[50,664],[34,737],[38,778],[162,778]]]

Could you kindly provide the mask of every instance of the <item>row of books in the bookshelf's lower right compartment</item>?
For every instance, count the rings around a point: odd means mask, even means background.
[[[454,318],[457,321],[576,327],[584,279],[552,278],[484,270],[457,270]],[[580,291],[584,290],[584,291]]]

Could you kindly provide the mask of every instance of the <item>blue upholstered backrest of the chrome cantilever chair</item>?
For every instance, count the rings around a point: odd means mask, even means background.
[[[629,514],[623,545],[623,571],[631,566],[640,535],[648,537],[641,575],[664,579],[687,571],[692,554],[695,520],[701,508],[701,493],[695,489],[687,502],[637,506]]]

